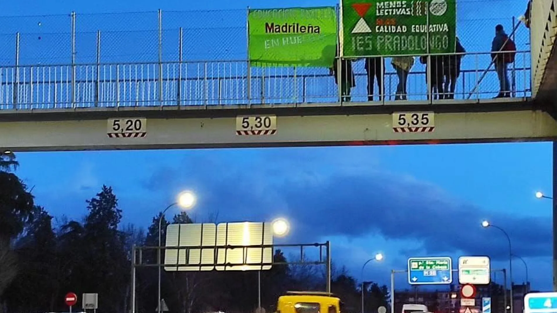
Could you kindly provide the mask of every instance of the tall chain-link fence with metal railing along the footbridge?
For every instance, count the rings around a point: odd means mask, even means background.
[[[456,33],[467,54],[454,98],[499,92],[488,70],[496,24],[519,51],[509,66],[512,96],[530,95],[530,34],[512,16],[523,9],[522,0],[457,2]],[[248,66],[246,20],[247,9],[0,17],[0,108],[339,101],[326,68]],[[390,58],[383,62],[384,86],[375,91],[384,88],[383,100],[392,101],[398,78]],[[364,61],[353,68],[353,101],[367,101]],[[428,99],[425,71],[415,62],[408,100]]]

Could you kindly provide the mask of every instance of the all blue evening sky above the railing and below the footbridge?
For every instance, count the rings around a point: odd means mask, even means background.
[[[495,24],[510,29],[512,16],[524,12],[526,1],[458,3],[458,36],[465,48],[487,51]],[[105,60],[153,59],[156,45],[138,44],[136,39],[157,40],[156,13],[97,13],[159,8],[168,12],[164,21],[169,34],[180,26],[197,33],[185,51],[187,58],[245,58],[242,36],[247,6],[335,4],[319,0],[3,1],[2,16],[34,17],[1,18],[0,41],[7,44],[1,46],[0,58],[13,61],[12,34],[20,31],[26,49],[23,59],[69,61],[64,57],[69,56],[67,13],[76,11],[78,31],[84,32],[77,43],[78,59],[94,58],[96,29],[116,31],[103,38],[121,44],[105,46]],[[232,11],[170,12],[216,9]],[[517,36],[517,47],[527,49],[525,28]],[[55,46],[60,50],[55,52]],[[170,58],[172,52],[166,51]],[[475,66],[474,61],[465,62]],[[549,143],[52,152],[19,153],[18,158],[22,165],[18,175],[34,186],[37,202],[53,215],[80,218],[86,211],[85,200],[104,183],[114,187],[125,222],[147,226],[175,194],[192,188],[199,197],[192,212],[198,220],[214,212],[219,213],[219,221],[285,216],[292,223],[285,240],[331,240],[334,259],[356,276],[365,260],[382,251],[385,262],[369,266],[365,279],[385,284],[390,270],[404,269],[409,256],[487,254],[494,267],[505,266],[503,235],[480,227],[481,220],[489,218],[509,232],[514,253],[529,265],[534,287],[551,288],[551,203],[533,196],[536,190],[551,190]],[[522,264],[514,262],[514,268],[515,280],[523,281]],[[403,280],[397,277],[398,287],[404,287]]]

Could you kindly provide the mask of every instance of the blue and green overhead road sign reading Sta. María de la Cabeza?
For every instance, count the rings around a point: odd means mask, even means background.
[[[408,259],[408,283],[440,285],[452,282],[451,257],[411,257]]]

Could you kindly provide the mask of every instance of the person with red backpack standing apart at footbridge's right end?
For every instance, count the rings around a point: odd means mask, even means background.
[[[501,53],[502,51],[502,53]],[[508,51],[508,52],[506,52]],[[511,96],[511,84],[509,82],[509,63],[515,62],[516,45],[505,33],[501,24],[495,26],[495,37],[491,43],[491,59],[495,64],[495,71],[499,77],[499,95],[496,98]]]

